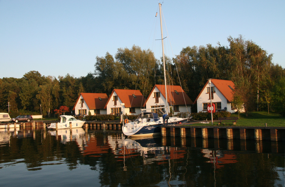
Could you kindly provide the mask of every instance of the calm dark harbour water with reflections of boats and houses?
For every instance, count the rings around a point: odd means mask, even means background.
[[[0,186],[284,186],[284,142],[0,131]]]

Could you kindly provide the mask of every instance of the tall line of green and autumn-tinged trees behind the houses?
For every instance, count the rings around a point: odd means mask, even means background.
[[[181,84],[194,101],[207,79],[231,80],[236,86],[233,104],[242,105],[246,113],[275,110],[283,116],[285,69],[253,41],[227,39],[229,46],[188,46],[176,57],[166,57],[170,84]],[[114,57],[106,52],[95,60],[94,71],[85,77],[45,77],[30,71],[21,79],[0,79],[0,110],[7,111],[9,102],[10,111],[40,111],[41,106],[50,116],[62,105],[71,110],[82,92],[110,95],[113,89],[137,89],[147,97],[154,84],[164,84],[161,59],[149,49],[119,48]]]

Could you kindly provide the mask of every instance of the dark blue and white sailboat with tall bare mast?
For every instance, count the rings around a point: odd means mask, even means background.
[[[160,13],[160,28],[161,28],[161,41],[162,41],[162,60],[163,60],[163,71],[164,71],[164,86],[166,95],[166,106],[157,107],[155,109],[166,108],[165,114],[162,117],[158,117],[158,114],[153,112],[154,108],[141,109],[142,112],[138,118],[134,121],[129,121],[123,124],[122,130],[126,136],[154,136],[161,133],[162,125],[174,125],[179,123],[188,122],[192,116],[189,113],[182,114],[181,116],[168,116],[168,104],[167,104],[167,84],[166,84],[166,69],[165,69],[165,58],[164,58],[164,46],[163,46],[163,34],[162,34],[162,18],[161,18],[161,4],[159,3]],[[150,110],[151,112],[147,112]],[[121,114],[123,119],[123,114]],[[165,123],[166,121],[166,123]]]

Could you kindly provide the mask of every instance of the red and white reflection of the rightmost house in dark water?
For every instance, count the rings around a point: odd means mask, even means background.
[[[215,168],[222,168],[224,164],[237,163],[235,154],[223,154],[222,151],[213,151],[210,149],[201,149],[201,153],[204,153],[203,157],[209,159],[208,163],[215,164]]]

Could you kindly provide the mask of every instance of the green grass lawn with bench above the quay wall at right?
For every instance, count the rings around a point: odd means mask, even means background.
[[[274,112],[251,112],[248,117],[245,114],[231,114],[230,117],[239,117],[237,124],[233,125],[232,122],[222,122],[219,126],[252,126],[252,127],[264,127],[267,123],[267,127],[285,127],[285,118]],[[211,120],[208,119],[209,124],[191,124],[185,126],[211,126]],[[213,122],[213,126],[218,126],[218,122]]]

